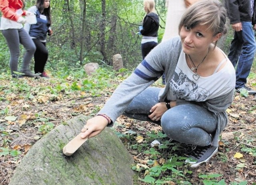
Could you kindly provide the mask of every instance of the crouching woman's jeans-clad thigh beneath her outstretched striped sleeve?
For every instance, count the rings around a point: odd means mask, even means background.
[[[133,98],[132,102],[124,111],[123,115],[141,121],[150,121],[160,125],[160,121],[153,121],[148,118],[149,111],[155,104],[159,103],[158,94],[160,88],[148,87],[142,93]]]

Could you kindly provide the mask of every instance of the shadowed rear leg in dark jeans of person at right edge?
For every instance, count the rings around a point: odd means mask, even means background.
[[[242,52],[242,45],[242,31],[234,31],[234,39],[231,42],[230,50],[228,53],[228,59],[231,61],[234,67],[236,67],[239,56]]]

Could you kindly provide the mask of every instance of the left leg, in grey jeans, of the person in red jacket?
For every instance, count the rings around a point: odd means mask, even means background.
[[[8,29],[8,30],[2,30],[2,34],[4,35],[10,50],[11,74],[15,75],[14,71],[18,72],[18,59],[20,55],[19,33],[17,29]]]

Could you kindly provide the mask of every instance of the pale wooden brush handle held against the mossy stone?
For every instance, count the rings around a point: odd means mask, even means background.
[[[82,139],[81,138],[81,134],[78,134],[76,137],[74,137],[68,144],[66,144],[66,146],[64,146],[62,152],[64,155],[70,156],[72,154],[74,154],[74,152],[76,152],[76,150],[82,145],[84,144],[84,142],[86,142],[88,140],[88,137]]]

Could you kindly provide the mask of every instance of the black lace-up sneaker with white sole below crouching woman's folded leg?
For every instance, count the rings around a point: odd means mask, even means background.
[[[192,154],[186,159],[186,163],[190,163],[191,167],[198,167],[201,163],[206,163],[209,159],[218,152],[216,146],[197,146]]]

